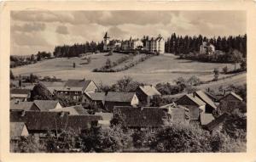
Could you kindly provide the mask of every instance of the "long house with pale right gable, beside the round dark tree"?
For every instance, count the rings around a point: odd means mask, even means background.
[[[67,80],[64,87],[56,87],[55,93],[75,100],[83,100],[85,92],[97,92],[98,87],[91,80]]]

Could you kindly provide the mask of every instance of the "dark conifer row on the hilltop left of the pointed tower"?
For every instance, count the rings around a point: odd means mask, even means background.
[[[85,42],[84,44],[56,46],[54,50],[55,57],[79,57],[82,53],[96,53],[103,50],[103,42]]]

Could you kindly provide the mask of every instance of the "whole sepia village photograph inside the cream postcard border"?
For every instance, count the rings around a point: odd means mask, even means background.
[[[247,152],[246,10],[13,10],[8,70],[10,153]]]

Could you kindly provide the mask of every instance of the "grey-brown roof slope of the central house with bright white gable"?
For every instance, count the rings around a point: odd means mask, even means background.
[[[135,92],[108,92],[105,101],[108,102],[131,102]]]

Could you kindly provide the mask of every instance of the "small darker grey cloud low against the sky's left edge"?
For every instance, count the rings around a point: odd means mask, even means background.
[[[44,31],[45,24],[44,23],[26,23],[24,25],[12,25],[12,31],[24,31],[24,32],[32,32],[32,31]]]

